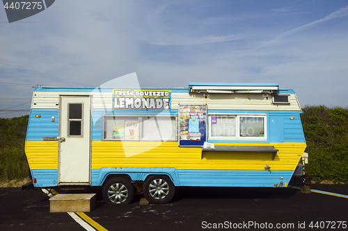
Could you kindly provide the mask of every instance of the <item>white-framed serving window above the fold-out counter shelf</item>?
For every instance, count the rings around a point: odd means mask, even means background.
[[[209,139],[267,139],[267,116],[209,114]]]

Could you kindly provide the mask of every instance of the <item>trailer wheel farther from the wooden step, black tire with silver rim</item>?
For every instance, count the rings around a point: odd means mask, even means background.
[[[175,185],[168,176],[149,176],[143,184],[143,194],[152,204],[166,204],[175,194]]]

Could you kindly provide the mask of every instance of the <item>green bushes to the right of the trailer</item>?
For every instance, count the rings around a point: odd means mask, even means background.
[[[348,110],[306,106],[301,120],[306,137],[309,164],[306,173],[316,182],[348,183]]]

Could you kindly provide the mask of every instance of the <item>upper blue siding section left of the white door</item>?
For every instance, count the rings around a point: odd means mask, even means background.
[[[35,115],[40,115],[36,118]],[[54,122],[51,121],[54,117]],[[58,109],[31,109],[26,140],[42,140],[43,137],[58,137],[59,130]]]

